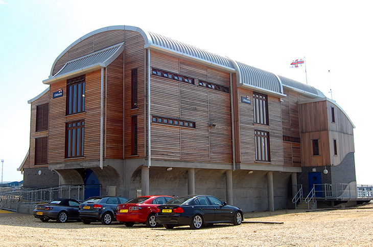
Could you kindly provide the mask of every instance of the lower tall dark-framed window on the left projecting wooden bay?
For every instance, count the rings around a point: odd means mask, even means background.
[[[66,123],[66,158],[84,155],[84,121]]]

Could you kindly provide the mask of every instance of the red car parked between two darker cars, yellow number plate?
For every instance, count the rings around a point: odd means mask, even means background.
[[[127,227],[135,223],[145,223],[147,227],[155,227],[155,214],[158,206],[173,199],[170,196],[144,196],[136,197],[116,207],[116,220],[123,222]]]

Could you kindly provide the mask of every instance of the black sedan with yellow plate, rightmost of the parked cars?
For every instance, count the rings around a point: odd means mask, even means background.
[[[159,205],[158,209],[155,221],[167,229],[183,225],[200,229],[203,225],[216,223],[240,225],[243,220],[241,209],[207,195],[175,198]]]

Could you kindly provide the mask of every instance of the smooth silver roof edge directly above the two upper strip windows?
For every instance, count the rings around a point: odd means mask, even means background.
[[[154,43],[145,44],[144,48],[145,49],[149,48],[149,49],[161,51],[161,52],[167,53],[167,54],[174,54],[178,58],[183,58],[185,60],[197,62],[199,64],[203,64],[203,65],[206,65],[208,67],[218,68],[220,70],[224,70],[224,71],[227,71],[229,73],[236,72],[236,70],[234,68],[223,66],[223,65],[213,63],[213,62],[210,62],[210,61],[207,61],[207,60],[199,59],[197,57],[190,56],[189,54],[186,54],[184,52],[180,52],[180,51],[172,50],[172,49],[169,49],[169,48],[165,48],[163,46],[156,45]]]

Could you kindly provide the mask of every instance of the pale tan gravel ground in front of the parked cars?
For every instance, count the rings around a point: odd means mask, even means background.
[[[354,209],[245,213],[240,226],[191,230],[41,222],[0,213],[0,246],[373,246],[373,204]]]

